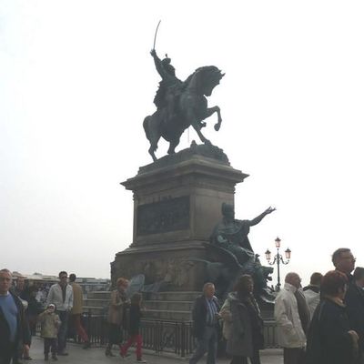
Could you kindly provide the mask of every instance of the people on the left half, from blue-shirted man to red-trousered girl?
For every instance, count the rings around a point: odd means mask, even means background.
[[[44,339],[45,360],[58,360],[58,356],[68,355],[66,339],[69,324],[83,340],[83,348],[90,348],[81,320],[82,288],[76,283],[75,274],[68,277],[66,271],[61,271],[58,277],[59,282],[49,288],[42,303],[36,299],[37,287],[25,288],[25,279],[21,277],[17,278],[14,286],[11,272],[0,270],[0,364],[21,364],[20,359],[32,359],[29,350],[37,324],[40,324],[40,336]],[[144,311],[142,295],[135,293],[131,299],[127,298],[128,283],[126,278],[118,278],[116,289],[111,292],[105,354],[106,357],[114,356],[111,349],[118,345],[121,357],[125,358],[128,356],[127,349],[136,344],[136,361],[146,363],[142,358],[143,342],[139,332]],[[129,339],[124,345],[123,328],[129,331]]]

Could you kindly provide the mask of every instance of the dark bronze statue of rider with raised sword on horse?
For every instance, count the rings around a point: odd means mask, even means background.
[[[196,130],[203,143],[211,145],[201,132],[202,127],[206,126],[203,120],[217,113],[215,130],[218,130],[222,119],[218,106],[207,107],[206,96],[211,96],[214,87],[219,84],[225,74],[222,74],[216,66],[203,66],[197,68],[186,81],[181,81],[177,78],[175,67],[171,65],[167,55],[161,60],[155,48],[150,54],[159,76],[162,77],[154,98],[157,110],[153,115],[147,116],[143,122],[150,142],[149,154],[153,160],[157,160],[155,152],[161,136],[169,142],[167,153],[174,154],[179,139],[188,126]]]

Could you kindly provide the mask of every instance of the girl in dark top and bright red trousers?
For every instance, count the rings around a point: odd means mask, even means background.
[[[147,363],[147,360],[142,359],[142,343],[143,339],[139,333],[140,319],[142,318],[142,295],[135,293],[131,298],[130,315],[129,315],[129,339],[126,344],[120,349],[120,355],[125,358],[127,349],[129,349],[134,343],[136,343],[136,362]]]

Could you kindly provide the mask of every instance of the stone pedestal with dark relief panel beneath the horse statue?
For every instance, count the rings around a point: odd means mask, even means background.
[[[133,242],[111,264],[113,283],[144,274],[146,284],[159,282],[164,290],[199,291],[204,243],[221,220],[221,204],[234,204],[235,186],[246,177],[221,149],[205,145],[140,167],[122,183],[133,191]]]

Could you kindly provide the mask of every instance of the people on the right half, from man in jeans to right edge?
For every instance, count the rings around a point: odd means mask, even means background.
[[[274,306],[284,364],[364,363],[364,268],[355,261],[349,248],[339,248],[334,269],[313,273],[305,288],[298,273],[287,274]],[[207,364],[216,363],[221,321],[231,364],[260,364],[264,325],[253,290],[253,279],[241,276],[220,308],[214,285],[205,284],[193,308],[197,348],[189,364],[206,353]]]

